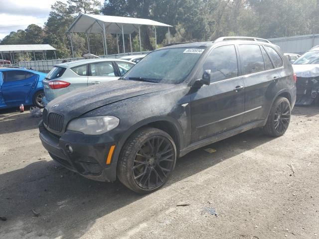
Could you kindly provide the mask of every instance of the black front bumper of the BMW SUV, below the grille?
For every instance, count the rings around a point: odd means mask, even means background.
[[[116,160],[107,162],[111,146],[116,144],[112,139],[97,142],[99,140],[95,136],[74,131],[67,131],[59,137],[49,132],[42,121],[39,131],[44,148],[53,160],[65,168],[96,181],[116,180]]]

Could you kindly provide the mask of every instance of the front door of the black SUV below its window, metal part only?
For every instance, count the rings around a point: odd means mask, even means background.
[[[216,82],[191,94],[192,141],[198,141],[242,124],[244,89],[241,78]]]

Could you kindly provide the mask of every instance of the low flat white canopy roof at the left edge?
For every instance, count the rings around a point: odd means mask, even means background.
[[[33,45],[0,45],[0,53],[10,52],[41,52],[47,50],[55,50],[54,47],[48,44],[33,44]]]

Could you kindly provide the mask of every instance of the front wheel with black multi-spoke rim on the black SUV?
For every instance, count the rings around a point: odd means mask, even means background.
[[[166,183],[175,163],[176,146],[171,136],[158,128],[142,128],[123,146],[117,175],[129,189],[151,193]]]

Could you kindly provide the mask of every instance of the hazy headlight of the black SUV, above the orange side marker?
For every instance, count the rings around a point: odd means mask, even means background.
[[[114,116],[85,117],[71,120],[67,126],[67,130],[96,135],[116,128],[119,123],[120,119]]]

